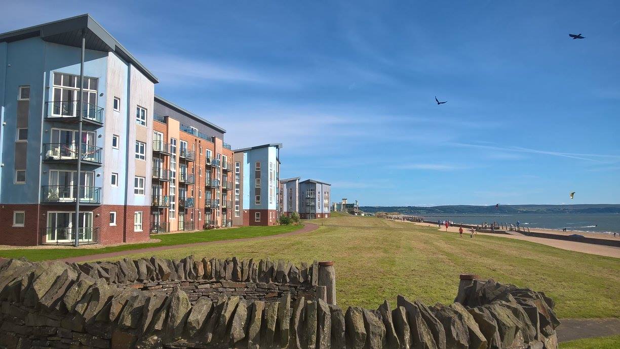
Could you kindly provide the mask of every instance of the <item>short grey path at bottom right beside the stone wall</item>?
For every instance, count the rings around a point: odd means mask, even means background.
[[[620,319],[560,319],[557,340],[569,342],[581,338],[620,335]]]

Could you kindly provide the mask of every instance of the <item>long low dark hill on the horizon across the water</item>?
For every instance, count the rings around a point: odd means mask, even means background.
[[[360,206],[363,212],[398,212],[403,215],[453,215],[471,214],[516,214],[516,213],[620,213],[620,205],[500,205],[492,206],[445,205],[445,206]]]

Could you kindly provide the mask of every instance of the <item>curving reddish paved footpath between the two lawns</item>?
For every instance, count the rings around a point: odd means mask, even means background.
[[[213,244],[227,244],[227,243],[241,243],[244,241],[255,241],[255,240],[264,240],[264,239],[272,239],[272,238],[283,238],[285,236],[293,236],[299,235],[303,233],[309,233],[310,231],[317,230],[319,228],[318,225],[314,223],[304,223],[304,226],[295,231],[291,231],[290,233],[283,233],[278,235],[268,235],[268,236],[256,236],[254,238],[242,238],[242,239],[229,239],[229,240],[218,240],[218,241],[206,241],[204,243],[191,243],[191,244],[181,244],[181,245],[172,245],[172,246],[156,246],[152,248],[141,248],[141,249],[131,249],[128,251],[118,251],[118,252],[109,252],[109,253],[101,253],[101,254],[90,254],[88,256],[79,256],[79,257],[69,257],[58,259],[58,261],[68,262],[68,263],[81,263],[87,261],[97,261],[100,259],[108,259],[120,256],[126,256],[128,254],[139,254],[139,253],[151,253],[158,251],[165,251],[168,249],[177,249],[177,248],[193,248],[197,246],[205,246],[205,245],[213,245]],[[185,233],[179,233],[185,234]]]

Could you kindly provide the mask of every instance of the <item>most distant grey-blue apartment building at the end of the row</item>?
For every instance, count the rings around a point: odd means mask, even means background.
[[[299,217],[328,218],[331,185],[314,179],[299,182]]]

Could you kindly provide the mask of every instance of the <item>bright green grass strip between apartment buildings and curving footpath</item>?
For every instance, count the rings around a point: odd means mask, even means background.
[[[278,226],[242,226],[234,229],[205,230],[195,233],[174,233],[151,235],[152,238],[160,239],[159,243],[126,244],[97,249],[3,249],[0,257],[19,258],[26,257],[29,261],[44,261],[47,259],[59,259],[66,257],[88,256],[91,254],[127,251],[156,246],[173,246],[179,244],[202,243],[206,241],[218,241],[228,239],[254,238],[256,236],[270,236],[298,230],[301,225],[278,225]]]

